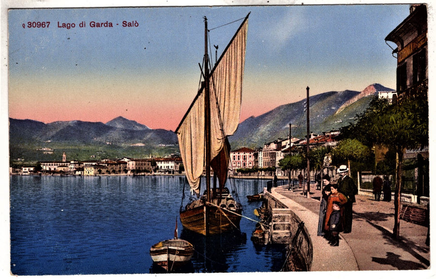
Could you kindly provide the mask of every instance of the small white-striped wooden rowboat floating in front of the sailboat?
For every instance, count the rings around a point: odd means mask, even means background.
[[[194,246],[183,239],[160,241],[150,249],[153,262],[167,271],[187,264],[194,254]]]

